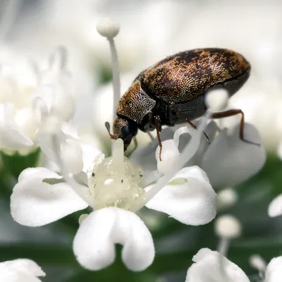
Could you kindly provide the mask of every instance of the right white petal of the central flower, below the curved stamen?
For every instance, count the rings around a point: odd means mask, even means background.
[[[191,166],[181,169],[173,179],[176,178],[184,178],[187,182],[166,185],[146,207],[165,212],[185,224],[196,226],[212,221],[216,216],[216,193],[204,171]]]

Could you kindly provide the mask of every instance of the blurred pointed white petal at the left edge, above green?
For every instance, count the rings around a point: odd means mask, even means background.
[[[1,146],[20,149],[33,145],[13,116],[13,104],[7,102],[0,104],[0,143]]]

